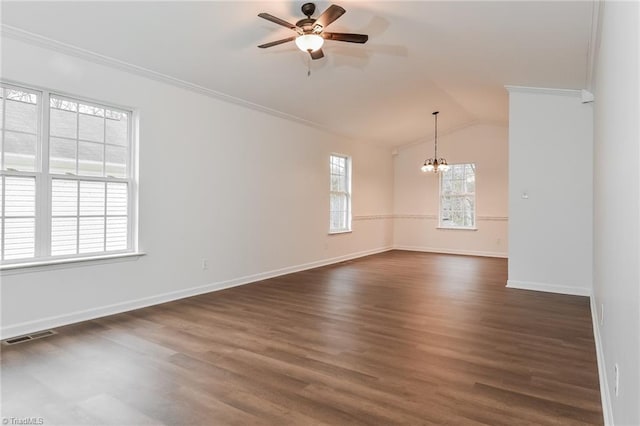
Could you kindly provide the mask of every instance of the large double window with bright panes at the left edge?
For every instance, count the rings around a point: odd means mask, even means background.
[[[3,264],[134,249],[132,113],[2,84]]]

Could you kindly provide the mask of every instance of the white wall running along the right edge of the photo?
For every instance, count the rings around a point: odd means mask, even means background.
[[[599,313],[604,305],[596,340],[605,400],[620,426],[640,424],[639,9],[637,2],[601,3],[595,69],[595,158],[610,166],[594,170],[592,306]]]

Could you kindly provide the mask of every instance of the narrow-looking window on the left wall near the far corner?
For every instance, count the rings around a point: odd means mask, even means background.
[[[331,155],[329,232],[351,231],[351,159],[343,155]]]

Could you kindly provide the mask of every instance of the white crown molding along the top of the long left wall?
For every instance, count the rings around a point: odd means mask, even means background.
[[[278,111],[276,109],[269,108],[264,105],[260,105],[242,98],[237,98],[235,96],[231,96],[226,93],[218,92],[217,90],[209,89],[207,87],[200,86],[198,84],[190,83],[188,81],[181,80],[179,78],[172,77],[170,75],[166,75],[157,71],[153,71],[138,65],[134,65],[129,62],[121,61],[119,59],[115,59],[110,56],[101,55],[99,53],[95,53],[90,50],[83,49],[81,47],[77,47],[71,44],[67,44],[58,40],[51,39],[49,37],[45,37],[29,31],[25,31],[23,29],[20,29],[11,25],[6,25],[6,24],[0,25],[0,35],[3,38],[8,37],[23,43],[31,44],[33,46],[43,47],[45,49],[53,50],[63,55],[74,56],[76,58],[80,58],[98,65],[104,65],[110,68],[115,68],[120,71],[128,72],[130,74],[135,74],[135,75],[145,77],[154,81],[169,84],[169,85],[179,87],[181,89],[189,90],[191,92],[195,92],[201,95],[205,95],[220,101],[239,105],[245,108],[252,109],[254,111],[263,112],[265,114],[269,114],[274,117],[292,121],[294,123],[302,124],[304,126],[312,127],[314,129],[318,129],[318,130],[330,133],[332,135],[339,136],[341,138],[345,138],[351,141],[357,141],[357,139],[355,139],[353,136],[336,132],[335,130],[332,130],[329,127],[322,125],[320,123],[316,123],[311,120],[307,120],[295,115],[291,115],[286,112]]]

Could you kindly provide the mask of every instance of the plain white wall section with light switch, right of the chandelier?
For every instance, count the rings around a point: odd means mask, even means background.
[[[510,89],[509,287],[591,293],[592,115],[579,92]]]

